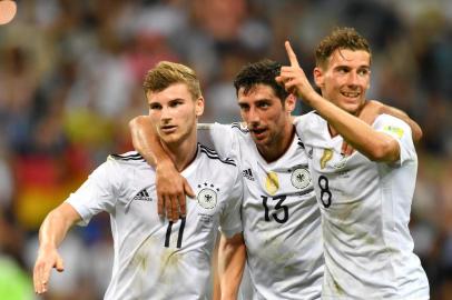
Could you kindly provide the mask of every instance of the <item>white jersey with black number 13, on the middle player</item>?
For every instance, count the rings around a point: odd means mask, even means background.
[[[242,219],[254,299],[320,299],[321,216],[297,136],[283,157],[268,163],[238,123],[200,131],[200,139],[210,138],[243,172]]]

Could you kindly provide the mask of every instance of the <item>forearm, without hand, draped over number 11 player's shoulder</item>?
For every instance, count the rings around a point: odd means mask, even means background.
[[[153,129],[147,116],[139,116],[129,122],[131,142],[134,148],[146,159],[146,161],[156,167],[160,162],[169,162],[171,159],[165,152],[157,132]]]

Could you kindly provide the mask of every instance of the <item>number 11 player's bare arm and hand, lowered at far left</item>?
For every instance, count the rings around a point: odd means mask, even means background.
[[[33,269],[33,284],[37,293],[47,291],[52,268],[59,272],[65,270],[58,247],[69,228],[80,219],[80,214],[69,203],[63,202],[43,220],[39,229],[39,251]]]

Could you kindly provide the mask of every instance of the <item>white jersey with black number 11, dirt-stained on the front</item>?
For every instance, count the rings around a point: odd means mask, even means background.
[[[137,153],[110,156],[67,200],[82,223],[110,214],[115,259],[105,299],[210,299],[210,256],[218,226],[242,232],[242,177],[235,162],[198,144],[181,172],[194,188],[187,216],[176,223],[157,214],[155,170]]]

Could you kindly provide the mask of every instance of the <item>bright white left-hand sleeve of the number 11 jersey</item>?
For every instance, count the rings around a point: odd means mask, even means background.
[[[115,209],[119,178],[117,163],[111,159],[99,166],[66,200],[80,214],[79,226],[87,226],[91,218],[101,211],[112,212]]]

